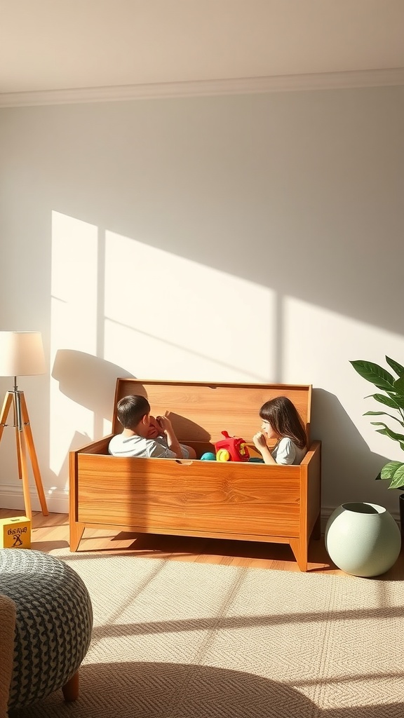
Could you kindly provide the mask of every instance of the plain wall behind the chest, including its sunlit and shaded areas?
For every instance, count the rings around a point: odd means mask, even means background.
[[[51,510],[133,375],[312,383],[324,516],[397,512],[349,360],[404,363],[403,121],[402,87],[0,111],[0,329],[43,332],[19,385]],[[5,431],[19,508],[14,454]]]

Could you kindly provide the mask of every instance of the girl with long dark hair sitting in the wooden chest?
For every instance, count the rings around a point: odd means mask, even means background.
[[[261,431],[252,437],[265,464],[300,464],[307,451],[307,434],[295,405],[287,396],[266,401],[260,409]],[[267,439],[275,439],[269,449]]]

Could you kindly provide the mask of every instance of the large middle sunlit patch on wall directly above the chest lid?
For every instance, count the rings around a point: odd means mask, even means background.
[[[273,376],[274,292],[113,232],[106,232],[105,317],[104,358],[135,376]]]

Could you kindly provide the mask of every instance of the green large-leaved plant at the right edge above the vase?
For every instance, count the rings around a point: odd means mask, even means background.
[[[364,416],[388,416],[404,429],[404,367],[390,357],[386,357],[386,362],[397,376],[393,376],[390,371],[369,361],[357,360],[350,363],[362,378],[383,392],[369,394],[365,398],[374,398],[387,411],[366,411]],[[394,413],[391,414],[390,411]],[[373,426],[379,426],[380,428],[376,431],[389,437],[392,441],[398,442],[404,451],[404,434],[394,432],[384,421],[371,421],[370,423]],[[387,462],[376,478],[390,480],[390,489],[404,489],[404,462]],[[404,493],[400,495],[400,523],[403,533]]]

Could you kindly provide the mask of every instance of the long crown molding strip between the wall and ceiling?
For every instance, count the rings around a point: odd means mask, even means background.
[[[385,70],[350,70],[349,72],[341,73],[313,73],[310,75],[271,75],[259,78],[192,80],[177,83],[110,85],[108,87],[0,93],[0,108],[203,97],[208,95],[295,92],[298,90],[334,90],[392,85],[404,85],[404,67],[390,67]]]

